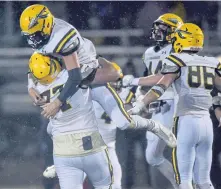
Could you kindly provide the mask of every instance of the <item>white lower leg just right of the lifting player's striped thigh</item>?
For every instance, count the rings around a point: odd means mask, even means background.
[[[113,166],[114,183],[112,189],[121,189],[122,170],[116,154],[115,141],[107,144],[109,157]]]

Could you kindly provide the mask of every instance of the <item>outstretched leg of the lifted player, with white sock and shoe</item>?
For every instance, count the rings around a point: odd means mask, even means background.
[[[112,121],[120,129],[146,128],[162,138],[169,146],[175,146],[176,139],[172,132],[163,125],[151,119],[145,119],[138,115],[130,116],[124,108],[124,104],[116,91],[109,85],[94,87],[91,90],[92,99],[97,101]]]

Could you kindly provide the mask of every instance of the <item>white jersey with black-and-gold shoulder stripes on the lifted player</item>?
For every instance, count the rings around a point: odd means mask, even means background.
[[[94,44],[89,39],[81,37],[78,30],[64,20],[54,19],[54,27],[48,43],[35,51],[44,55],[61,57],[61,53],[67,52],[77,44],[79,47],[76,52],[82,77],[85,78],[99,66]]]

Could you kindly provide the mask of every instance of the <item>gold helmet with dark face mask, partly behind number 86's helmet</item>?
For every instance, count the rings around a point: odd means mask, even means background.
[[[171,34],[183,24],[183,20],[172,13],[161,15],[152,26],[152,39],[158,42],[171,42]]]

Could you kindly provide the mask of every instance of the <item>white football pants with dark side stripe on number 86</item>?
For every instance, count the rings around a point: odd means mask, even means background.
[[[213,125],[209,115],[185,115],[174,120],[177,147],[173,149],[175,178],[180,189],[214,189],[210,180]]]

